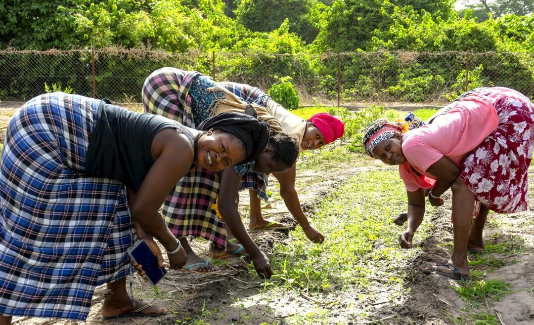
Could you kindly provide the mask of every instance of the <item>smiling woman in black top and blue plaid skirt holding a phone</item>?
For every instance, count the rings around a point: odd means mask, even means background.
[[[12,315],[84,320],[107,283],[104,318],[164,313],[132,299],[128,250],[153,237],[170,268],[186,253],[158,212],[187,171],[252,161],[269,127],[225,113],[199,130],[66,93],[38,96],[7,126],[0,167],[0,324]]]

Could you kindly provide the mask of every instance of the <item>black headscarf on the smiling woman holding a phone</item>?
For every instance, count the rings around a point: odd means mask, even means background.
[[[269,125],[253,116],[235,112],[224,112],[207,118],[198,126],[198,130],[221,130],[236,136],[245,145],[247,163],[256,159],[269,142]]]

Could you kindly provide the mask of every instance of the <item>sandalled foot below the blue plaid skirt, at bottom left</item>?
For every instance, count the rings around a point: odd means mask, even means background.
[[[146,307],[145,307],[146,306]],[[143,307],[145,307],[143,309]],[[121,316],[161,316],[165,314],[163,308],[152,306],[143,300],[136,299],[132,305],[131,299],[127,302],[117,302],[116,300],[105,299],[102,305],[103,318],[119,318]]]

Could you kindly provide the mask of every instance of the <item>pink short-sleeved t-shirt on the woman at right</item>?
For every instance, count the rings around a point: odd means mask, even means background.
[[[467,153],[496,130],[499,117],[493,104],[508,91],[512,90],[491,88],[483,94],[471,94],[454,102],[449,113],[436,117],[432,124],[403,134],[402,150],[407,162],[399,166],[399,174],[407,191],[434,187],[436,178],[426,172],[432,164],[446,156],[459,165]]]

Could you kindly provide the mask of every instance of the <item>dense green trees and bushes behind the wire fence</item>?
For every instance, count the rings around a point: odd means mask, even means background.
[[[532,11],[528,2],[504,3],[492,2],[482,17],[480,7],[455,11],[453,0],[14,0],[0,3],[0,49],[170,54],[97,53],[99,97],[113,87],[137,98],[143,81],[137,76],[166,65],[211,74],[213,52],[219,80],[269,89],[276,76],[290,76],[314,81],[305,85],[311,96],[331,99],[337,96],[336,52],[342,53],[343,100],[377,93],[408,102],[452,98],[465,90],[467,64],[469,88],[499,83],[534,96],[528,55],[534,53],[534,15],[525,14]],[[444,52],[446,59],[436,54]],[[88,53],[56,55],[52,63],[35,54],[0,53],[0,100],[33,97],[44,82],[91,94]],[[56,75],[62,80],[43,80]],[[131,80],[117,80],[122,75]],[[502,76],[513,77],[502,84]],[[436,95],[436,89],[443,91]]]

